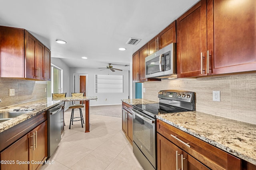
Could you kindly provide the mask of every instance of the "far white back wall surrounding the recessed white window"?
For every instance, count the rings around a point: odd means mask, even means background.
[[[74,73],[88,74],[88,82],[86,82],[86,96],[97,96],[98,100],[90,100],[90,106],[115,105],[122,104],[121,99],[128,99],[129,96],[129,74],[128,70],[115,71],[94,69],[94,68],[70,68],[70,90],[74,89]],[[95,93],[95,74],[123,75],[124,91],[123,93]],[[65,74],[63,74],[65,75]]]

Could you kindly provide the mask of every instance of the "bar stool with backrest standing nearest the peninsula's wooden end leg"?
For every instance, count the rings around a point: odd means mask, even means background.
[[[71,96],[72,97],[82,97],[82,96],[84,96],[84,93],[71,93]],[[70,117],[70,123],[69,123],[69,129],[71,127],[71,122],[72,122],[72,125],[73,125],[73,121],[81,121],[81,124],[82,124],[82,127],[83,127],[83,123],[84,123],[84,117],[83,117],[83,114],[82,114],[82,108],[84,107],[83,102],[84,101],[82,101],[82,104],[74,104],[74,101],[72,101],[72,106],[68,107],[69,109],[72,109],[71,117]],[[74,117],[74,109],[79,109],[80,117]],[[80,118],[80,119],[74,120],[76,118]]]

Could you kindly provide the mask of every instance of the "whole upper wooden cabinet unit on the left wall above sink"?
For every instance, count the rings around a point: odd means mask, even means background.
[[[0,47],[1,77],[50,80],[50,50],[28,31],[0,26]]]

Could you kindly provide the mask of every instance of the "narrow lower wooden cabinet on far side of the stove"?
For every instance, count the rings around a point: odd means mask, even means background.
[[[122,131],[127,139],[132,143],[132,106],[122,102]]]

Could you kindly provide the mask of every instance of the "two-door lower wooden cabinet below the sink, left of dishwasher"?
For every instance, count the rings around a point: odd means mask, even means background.
[[[36,170],[47,158],[47,120],[0,153],[1,170]]]

